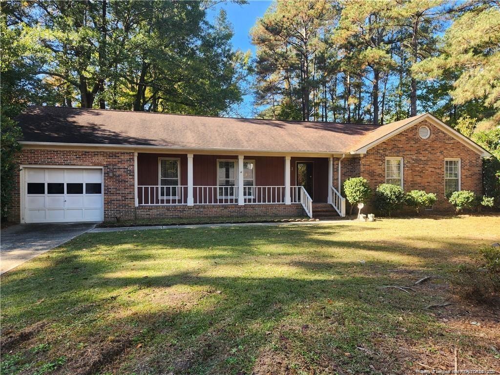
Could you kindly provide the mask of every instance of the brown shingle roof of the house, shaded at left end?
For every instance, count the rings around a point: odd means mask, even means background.
[[[348,152],[401,126],[50,106],[28,107],[16,119],[30,142],[295,152]]]

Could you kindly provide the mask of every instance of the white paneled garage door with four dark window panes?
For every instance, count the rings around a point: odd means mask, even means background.
[[[24,168],[24,221],[102,220],[102,169]]]

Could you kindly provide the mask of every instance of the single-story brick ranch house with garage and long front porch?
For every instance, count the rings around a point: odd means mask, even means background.
[[[352,176],[445,210],[447,191],[482,193],[490,156],[429,113],[377,126],[32,106],[17,120],[20,222],[344,216]]]

